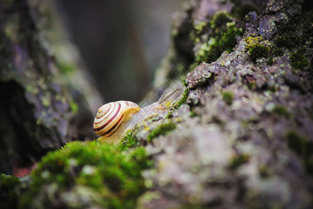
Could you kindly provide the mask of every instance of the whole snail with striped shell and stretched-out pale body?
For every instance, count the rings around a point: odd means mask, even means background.
[[[101,136],[98,141],[117,144],[131,125],[143,121],[148,116],[157,114],[160,111],[165,111],[166,106],[164,103],[177,91],[179,91],[179,88],[167,96],[164,92],[157,102],[143,108],[129,101],[109,102],[102,105],[98,109],[93,123],[93,130]]]

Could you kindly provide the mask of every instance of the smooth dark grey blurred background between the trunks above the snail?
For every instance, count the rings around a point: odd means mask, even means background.
[[[105,102],[138,102],[166,56],[179,0],[56,1]]]

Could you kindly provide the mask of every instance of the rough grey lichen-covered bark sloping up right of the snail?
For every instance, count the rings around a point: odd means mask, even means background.
[[[177,125],[146,147],[155,168],[144,173],[150,189],[139,206],[310,208],[312,5],[278,0],[184,6],[168,66],[208,63],[188,73],[186,104],[136,130],[145,141],[159,125]],[[220,20],[223,8],[238,19]],[[211,38],[218,40],[217,20],[243,29],[234,49],[223,49],[221,56],[211,54],[223,47]]]

